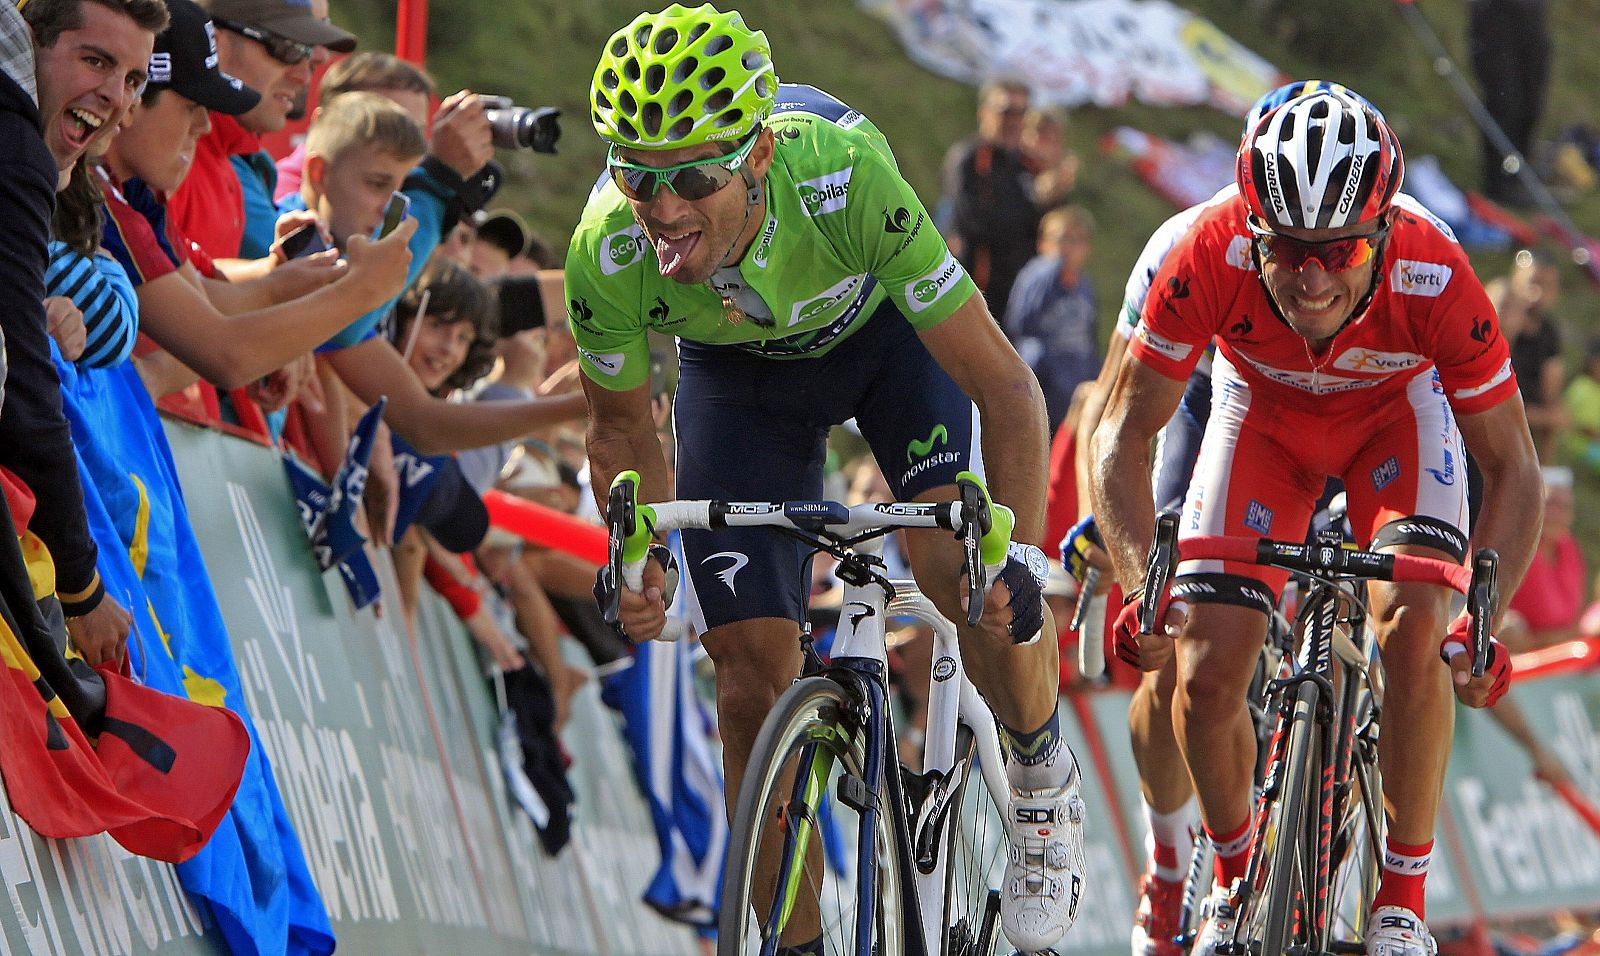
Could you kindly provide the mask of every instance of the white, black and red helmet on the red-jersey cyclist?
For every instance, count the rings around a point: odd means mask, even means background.
[[[1238,147],[1235,176],[1267,229],[1342,229],[1389,209],[1405,158],[1373,109],[1322,90],[1261,117]]]

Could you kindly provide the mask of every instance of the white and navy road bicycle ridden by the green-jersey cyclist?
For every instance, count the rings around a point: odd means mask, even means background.
[[[963,472],[958,500],[846,507],[829,500],[638,504],[624,472],[608,504],[611,580],[638,590],[653,534],[765,526],[838,560],[845,585],[827,662],[800,620],[805,665],[762,724],[730,830],[717,951],[771,956],[806,908],[821,911],[824,953],[990,956],[1006,865],[1002,809],[1010,787],[994,718],[962,670],[955,627],[915,584],[890,580],[862,548],[899,528],[962,539],[968,622],[1005,563],[1011,512]],[[810,561],[803,569],[808,574]],[[616,622],[618,595],[606,599]],[[920,772],[894,747],[886,623],[914,617],[934,633]],[[800,926],[797,922],[797,926]],[[795,940],[789,940],[790,945]]]

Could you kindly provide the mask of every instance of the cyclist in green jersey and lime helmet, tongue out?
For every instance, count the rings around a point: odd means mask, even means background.
[[[1002,922],[1054,945],[1083,882],[1077,761],[1056,718],[1056,646],[1040,601],[1046,427],[1029,368],[899,176],[883,134],[810,86],[779,85],[738,13],[672,5],[618,30],[590,117],[610,142],[566,262],[589,398],[595,489],[635,468],[640,499],[821,494],[827,428],[854,419],[901,499],[955,497],[981,472],[1016,534],[963,659],[1005,729],[1011,838]],[[677,488],[650,412],[648,331],[678,339]],[[979,452],[981,446],[981,452]],[[800,545],[766,529],[683,532],[690,620],[717,665],[728,793],[800,671]],[[907,540],[918,585],[965,620],[958,544]],[[622,595],[622,627],[664,625],[666,576]],[[808,911],[803,911],[808,910]],[[782,953],[819,951],[814,900]]]

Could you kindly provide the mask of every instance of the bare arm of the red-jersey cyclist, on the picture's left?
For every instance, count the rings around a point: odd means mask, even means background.
[[[1155,534],[1150,440],[1182,396],[1182,380],[1125,353],[1088,448],[1094,521],[1125,590],[1144,584],[1144,556]]]

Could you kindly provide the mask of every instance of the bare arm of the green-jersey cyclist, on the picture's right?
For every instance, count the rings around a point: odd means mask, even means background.
[[[1038,379],[1006,341],[982,296],[973,296],[918,336],[978,406],[989,492],[1016,512],[1013,540],[1042,544],[1050,432]]]

